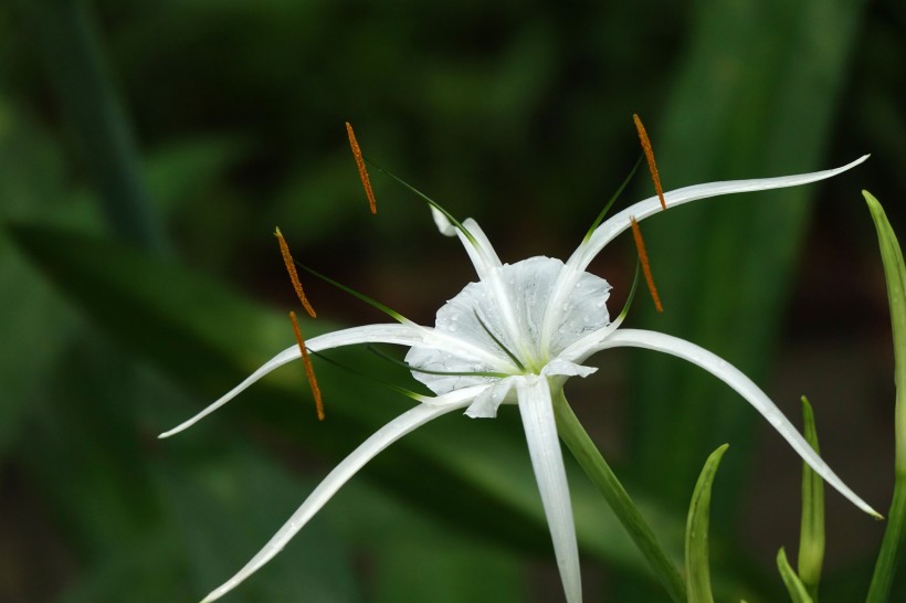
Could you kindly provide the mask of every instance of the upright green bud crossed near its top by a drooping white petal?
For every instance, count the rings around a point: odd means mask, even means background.
[[[809,400],[802,396],[802,435],[818,454],[818,431]],[[783,549],[780,549],[781,551]],[[784,556],[786,561],[786,556]],[[802,463],[802,520],[799,531],[799,578],[812,601],[818,601],[821,565],[824,563],[824,480]],[[782,572],[782,569],[781,569]]]

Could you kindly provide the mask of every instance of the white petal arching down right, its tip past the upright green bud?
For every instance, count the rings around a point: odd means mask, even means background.
[[[800,435],[799,431],[783,416],[783,413],[771,402],[770,398],[756,385],[751,379],[742,374],[739,369],[728,363],[726,360],[716,355],[699,348],[695,343],[664,335],[662,332],[636,330],[636,329],[621,329],[609,338],[601,341],[598,346],[599,350],[607,348],[633,347],[645,348],[650,350],[657,350],[666,352],[684,360],[688,360],[693,364],[697,364],[714,374],[727,385],[736,390],[739,395],[755,406],[755,410],[768,420],[768,423],[773,426],[777,432],[789,442],[790,446],[808,463],[824,480],[834,487],[840,494],[846,497],[853,505],[863,511],[875,517],[881,515],[875,511],[867,503],[862,500],[854,491],[852,491],[840,477],[828,466],[824,461],[815,454],[812,447],[805,442],[805,438]]]

